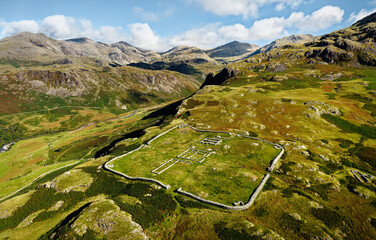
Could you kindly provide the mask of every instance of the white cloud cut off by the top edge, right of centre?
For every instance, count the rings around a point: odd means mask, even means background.
[[[303,0],[194,0],[206,11],[220,16],[235,15],[248,18],[257,17],[260,7],[276,4],[277,10],[283,10],[285,6],[295,8],[303,3]]]

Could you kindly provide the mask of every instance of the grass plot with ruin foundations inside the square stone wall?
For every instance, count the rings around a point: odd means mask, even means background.
[[[205,138],[222,141],[218,145],[200,143]],[[191,150],[185,156],[180,155],[187,149]],[[278,153],[272,145],[258,140],[183,127],[114,161],[113,169],[132,177],[153,178],[171,185],[172,189],[181,187],[200,197],[231,205],[248,201]],[[161,166],[169,160],[172,161]]]

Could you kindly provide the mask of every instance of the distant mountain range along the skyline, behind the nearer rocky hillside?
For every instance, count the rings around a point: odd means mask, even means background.
[[[304,43],[313,39],[312,35],[293,35],[263,48],[249,43],[233,41],[225,45],[202,50],[197,47],[178,46],[166,52],[153,52],[131,46],[126,42],[107,44],[88,38],[55,40],[39,33],[22,32],[0,40],[0,58],[18,61],[56,62],[68,64],[85,57],[96,65],[109,63],[127,65],[130,63],[154,62],[193,62],[216,63],[234,61],[254,52],[266,52],[274,47],[290,43]],[[69,58],[67,61],[65,58]]]

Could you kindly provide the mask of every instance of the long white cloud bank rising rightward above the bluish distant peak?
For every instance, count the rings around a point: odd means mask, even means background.
[[[274,40],[288,36],[289,30],[318,31],[342,21],[344,11],[339,7],[325,6],[311,15],[293,12],[288,18],[272,17],[255,21],[250,27],[243,24],[221,25],[209,24],[201,28],[191,29],[183,34],[166,40],[167,46],[188,45],[200,48],[211,48],[231,40],[254,42]]]

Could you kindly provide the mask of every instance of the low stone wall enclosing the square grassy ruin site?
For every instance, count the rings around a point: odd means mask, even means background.
[[[115,157],[115,158],[113,158],[113,159],[110,159],[110,160],[107,161],[105,164],[103,164],[103,169],[106,170],[106,171],[109,171],[109,172],[111,172],[111,173],[114,173],[114,174],[116,174],[116,175],[119,175],[119,176],[121,176],[121,177],[124,177],[124,178],[126,178],[126,179],[128,179],[128,180],[151,182],[151,183],[155,183],[155,184],[157,184],[157,185],[159,185],[159,186],[161,186],[161,187],[163,187],[163,188],[165,188],[165,189],[169,189],[169,188],[171,187],[170,185],[168,185],[168,184],[164,184],[164,183],[162,183],[162,182],[160,182],[160,181],[158,181],[158,180],[156,180],[156,179],[152,179],[152,178],[141,178],[141,177],[131,177],[131,176],[128,176],[128,175],[126,175],[126,174],[124,174],[124,173],[121,173],[121,172],[118,172],[118,171],[116,171],[116,170],[113,170],[113,169],[112,169],[112,165],[110,165],[110,164],[111,164],[111,162],[113,162],[113,161],[115,161],[115,160],[117,160],[117,159],[119,159],[119,158],[122,158],[122,157],[124,157],[124,156],[126,156],[126,155],[128,155],[128,154],[131,154],[131,153],[133,153],[133,152],[135,152],[135,151],[138,151],[139,149],[141,149],[141,148],[143,148],[143,147],[149,145],[152,141],[154,141],[155,139],[157,139],[157,138],[163,136],[164,134],[170,132],[171,130],[173,130],[173,129],[175,129],[175,128],[181,128],[181,127],[189,127],[189,128],[191,128],[192,130],[194,130],[194,131],[198,131],[198,132],[225,133],[225,134],[233,135],[232,133],[230,133],[230,132],[225,132],[225,131],[201,130],[201,129],[194,128],[194,127],[192,127],[192,126],[190,126],[190,125],[187,125],[187,124],[183,124],[183,125],[180,125],[180,126],[175,126],[175,127],[170,128],[169,130],[167,130],[167,131],[165,131],[165,132],[163,132],[163,133],[161,133],[161,134],[155,136],[154,138],[152,138],[151,140],[149,140],[147,143],[141,145],[141,146],[138,147],[137,149],[134,149],[134,150],[132,150],[132,151],[130,151],[130,152],[127,152],[127,153],[125,153],[125,154],[123,154],[123,155],[120,155],[120,156],[117,156],[117,157]],[[237,136],[237,137],[251,138],[251,139],[258,140],[258,141],[262,141],[262,142],[265,142],[265,143],[268,143],[268,144],[273,145],[273,146],[274,146],[275,148],[277,148],[277,149],[280,149],[281,151],[280,151],[279,154],[273,159],[273,161],[271,162],[270,166],[269,166],[268,169],[267,169],[268,171],[273,172],[276,163],[278,162],[278,160],[282,157],[283,153],[285,152],[284,148],[283,148],[281,145],[276,144],[276,143],[272,143],[272,142],[269,142],[269,141],[266,141],[266,140],[263,140],[263,139],[261,139],[261,138],[250,137],[250,136],[245,136],[245,135],[240,135],[240,134],[238,134],[238,135],[236,135],[236,136]],[[230,206],[230,205],[225,205],[225,204],[222,204],[222,203],[214,202],[214,201],[211,201],[211,200],[207,200],[207,199],[201,198],[201,197],[199,197],[199,196],[197,196],[197,195],[194,195],[194,194],[192,194],[192,193],[185,192],[185,191],[182,190],[182,188],[178,188],[178,189],[176,189],[174,192],[179,193],[179,194],[181,194],[181,195],[184,195],[184,196],[186,196],[186,197],[192,198],[192,199],[194,199],[194,200],[196,200],[196,201],[199,201],[199,202],[202,202],[202,203],[205,203],[205,204],[211,205],[211,206],[215,206],[215,207],[222,208],[222,209],[226,209],[226,210],[238,210],[238,211],[239,211],[239,210],[245,210],[245,209],[247,209],[247,208],[249,208],[249,207],[252,206],[253,202],[256,200],[257,196],[258,196],[259,193],[262,191],[262,189],[263,189],[265,183],[268,181],[269,177],[270,177],[270,173],[266,173],[266,174],[264,175],[263,179],[261,180],[261,183],[257,186],[257,188],[256,188],[256,189],[253,191],[253,193],[250,195],[249,200],[248,200],[244,205],[241,205],[241,206]]]

